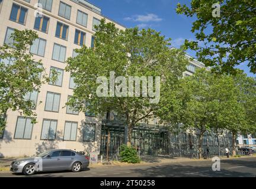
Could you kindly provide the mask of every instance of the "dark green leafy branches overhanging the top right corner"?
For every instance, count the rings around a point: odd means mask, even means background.
[[[196,41],[185,40],[185,47],[196,50],[199,61],[222,73],[236,73],[235,66],[248,63],[256,73],[255,0],[192,0],[176,11],[196,19],[191,29]]]

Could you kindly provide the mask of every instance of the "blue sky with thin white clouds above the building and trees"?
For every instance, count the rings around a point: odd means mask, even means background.
[[[190,4],[188,0],[89,0],[102,9],[102,13],[125,27],[153,28],[162,35],[172,39],[172,46],[180,47],[185,39],[193,40],[190,31],[193,18],[178,15],[175,7],[178,2]],[[193,51],[188,51],[194,56]],[[238,66],[248,76],[256,76],[249,72],[246,64]]]

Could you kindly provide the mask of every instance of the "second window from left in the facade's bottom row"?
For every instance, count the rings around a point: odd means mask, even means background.
[[[55,140],[57,120],[44,119],[41,131],[41,140]]]

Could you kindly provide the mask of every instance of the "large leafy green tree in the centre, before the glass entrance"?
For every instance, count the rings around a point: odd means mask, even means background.
[[[127,141],[131,142],[133,128],[137,123],[153,118],[159,108],[158,100],[161,102],[162,94],[173,89],[185,71],[188,61],[185,59],[183,51],[170,49],[169,41],[169,39],[165,40],[165,37],[159,32],[151,29],[119,30],[113,23],[105,24],[105,20],[101,20],[95,33],[94,48],[84,46],[76,50],[78,56],[69,58],[67,61],[66,70],[71,71],[76,83],[73,97],[67,105],[81,112],[89,111],[103,115],[103,113],[113,110],[117,115],[122,115],[128,128]],[[115,93],[126,94],[130,86],[134,88],[139,86],[141,89],[139,95],[129,97],[130,90],[127,96],[113,95],[111,83],[108,83],[112,78],[110,76],[112,71],[116,77],[116,85],[113,88]],[[123,79],[119,80],[120,77],[117,76],[123,76]],[[139,85],[132,81],[129,82],[129,87],[126,86],[126,81],[130,79],[129,76],[136,76],[139,80],[143,77],[148,79],[146,81],[148,91],[146,92],[149,92],[150,88],[149,77],[152,76],[153,82],[157,84],[156,77],[160,76],[159,93],[161,97],[155,98],[155,103],[150,103],[154,97],[141,92],[145,89],[141,80],[137,83]],[[100,83],[97,83],[99,77],[101,80]],[[102,91],[107,96],[101,97],[97,95],[97,89],[104,83],[106,87],[103,87]]]

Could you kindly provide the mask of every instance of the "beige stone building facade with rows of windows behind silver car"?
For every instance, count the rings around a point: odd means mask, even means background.
[[[36,61],[42,60],[48,75],[51,68],[60,73],[56,83],[44,84],[39,94],[29,96],[36,102],[36,124],[9,110],[7,126],[0,136],[0,157],[36,155],[53,148],[100,151],[101,120],[65,106],[68,96],[72,96],[73,83],[70,73],[64,71],[64,61],[75,56],[73,50],[81,45],[93,45],[93,26],[105,18],[101,9],[84,0],[1,0],[0,3],[0,44],[9,42],[14,28],[37,31],[40,40],[35,41],[30,52]],[[43,17],[39,19],[37,14]],[[113,22],[108,18],[106,21]]]

